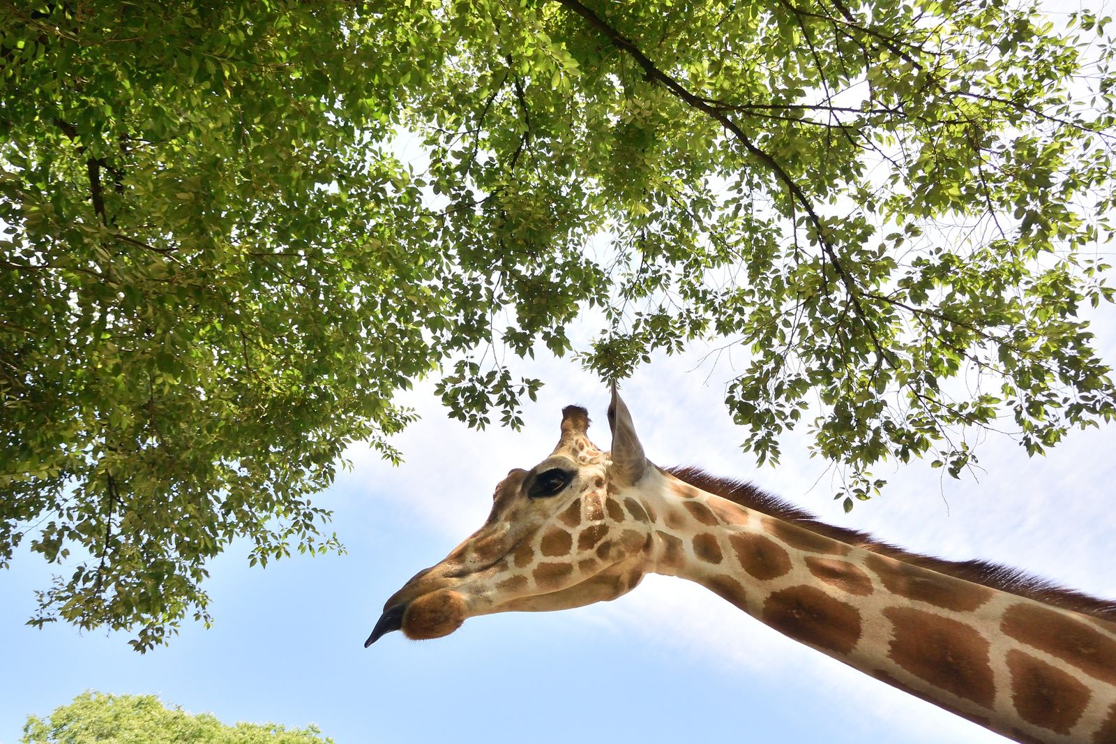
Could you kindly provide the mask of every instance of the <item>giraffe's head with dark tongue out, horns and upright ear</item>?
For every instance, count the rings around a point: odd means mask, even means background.
[[[586,410],[562,410],[555,450],[500,481],[484,525],[387,600],[365,646],[392,630],[439,638],[474,616],[581,607],[635,586],[653,567],[655,531],[633,488],[655,468],[615,388],[608,423],[612,450],[602,451]]]

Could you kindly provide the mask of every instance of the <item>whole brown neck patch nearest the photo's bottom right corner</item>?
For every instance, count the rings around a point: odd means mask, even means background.
[[[1058,667],[1033,656],[1008,651],[1011,702],[1023,721],[1068,734],[1089,704],[1089,688]]]

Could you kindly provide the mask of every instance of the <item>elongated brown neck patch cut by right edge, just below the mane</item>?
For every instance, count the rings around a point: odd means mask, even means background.
[[[1012,604],[1000,628],[1081,671],[1116,685],[1116,641],[1084,622],[1037,604]]]

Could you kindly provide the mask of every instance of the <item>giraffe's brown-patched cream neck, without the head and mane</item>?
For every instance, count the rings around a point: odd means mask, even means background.
[[[654,571],[1023,742],[1116,742],[1116,623],[847,544],[651,468]]]

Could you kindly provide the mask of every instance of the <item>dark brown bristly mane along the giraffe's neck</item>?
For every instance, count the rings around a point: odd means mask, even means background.
[[[947,561],[932,555],[911,553],[902,547],[877,540],[866,532],[837,527],[820,522],[809,512],[792,506],[777,496],[764,493],[750,483],[732,478],[721,478],[694,467],[673,467],[666,468],[666,471],[695,488],[701,488],[704,492],[715,494],[777,519],[790,522],[831,540],[863,547],[873,553],[903,561],[904,563],[937,571],[939,573],[958,579],[964,579],[977,584],[983,584],[991,589],[1010,592],[1019,597],[1074,610],[1075,612],[1089,614],[1103,620],[1116,621],[1116,601],[1103,600],[1084,592],[1066,589],[1019,569],[990,561]]]

